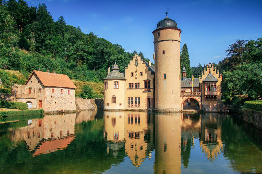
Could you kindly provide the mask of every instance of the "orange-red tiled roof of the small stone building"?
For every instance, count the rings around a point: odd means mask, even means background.
[[[62,87],[62,88],[76,88],[74,83],[65,74],[56,74],[51,72],[43,72],[34,70],[30,77],[35,72],[44,86]],[[30,78],[29,78],[30,79]],[[27,82],[29,81],[27,80]],[[27,84],[27,82],[25,84]]]

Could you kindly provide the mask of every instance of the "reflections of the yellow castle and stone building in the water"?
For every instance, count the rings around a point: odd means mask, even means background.
[[[24,141],[32,156],[66,149],[75,139],[77,124],[103,119],[104,143],[107,153],[118,155],[120,149],[138,167],[154,151],[156,173],[180,173],[187,167],[194,140],[199,140],[206,159],[216,160],[223,152],[221,124],[216,113],[153,113],[134,111],[81,111],[45,115],[28,120],[28,125],[10,128],[12,141]],[[100,116],[98,116],[100,115]]]

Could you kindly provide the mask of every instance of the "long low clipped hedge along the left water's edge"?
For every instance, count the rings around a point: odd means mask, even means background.
[[[39,110],[26,110],[26,111],[2,111],[0,112],[0,119],[13,116],[21,115],[44,115],[45,111],[42,109]]]

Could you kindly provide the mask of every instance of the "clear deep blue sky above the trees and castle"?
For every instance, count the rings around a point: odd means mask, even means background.
[[[191,66],[218,63],[237,39],[262,37],[262,1],[257,0],[167,0],[80,1],[26,0],[29,6],[47,5],[55,21],[62,15],[67,24],[94,32],[126,51],[142,51],[153,61],[152,31],[168,17],[177,22],[181,48],[187,44]],[[154,61],[153,61],[154,62]]]

